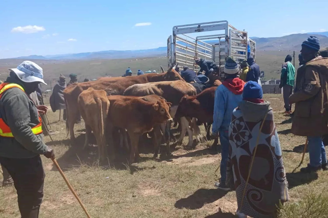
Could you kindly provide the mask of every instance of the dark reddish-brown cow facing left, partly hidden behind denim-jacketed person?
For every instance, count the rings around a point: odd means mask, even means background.
[[[205,89],[195,96],[183,96],[180,100],[179,106],[176,110],[175,117],[193,117],[197,118],[201,123],[208,123],[207,138],[209,139],[209,129],[213,123],[214,114],[214,97],[217,87]],[[213,148],[217,145],[217,138],[213,143]]]

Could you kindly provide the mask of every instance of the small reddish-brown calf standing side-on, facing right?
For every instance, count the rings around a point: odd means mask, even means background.
[[[108,132],[112,134],[113,127],[127,129],[131,141],[130,162],[139,158],[139,136],[153,130],[154,125],[172,122],[169,108],[170,102],[164,99],[157,102],[145,101],[132,96],[108,96],[111,107],[108,113]],[[112,136],[111,143],[113,142]]]

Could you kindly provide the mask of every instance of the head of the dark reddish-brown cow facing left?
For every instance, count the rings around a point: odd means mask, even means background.
[[[195,113],[199,113],[199,101],[196,96],[184,95],[178,105],[174,118],[195,117]]]

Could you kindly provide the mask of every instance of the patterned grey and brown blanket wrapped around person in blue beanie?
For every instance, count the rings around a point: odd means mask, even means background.
[[[265,114],[267,116],[260,132]],[[241,207],[258,135],[253,169]],[[250,217],[275,217],[279,201],[288,201],[285,168],[270,102],[255,104],[242,101],[234,110],[229,127],[226,184],[236,190],[239,211]]]

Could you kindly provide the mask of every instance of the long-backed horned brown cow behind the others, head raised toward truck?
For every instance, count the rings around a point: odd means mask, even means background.
[[[176,66],[169,68],[167,72],[165,72],[161,67],[161,74],[148,73],[145,75],[129,77],[103,77],[97,81],[74,83],[68,86],[64,90],[64,98],[67,111],[66,129],[70,132],[71,139],[75,139],[74,123],[77,120],[78,115],[77,97],[83,90],[92,87],[96,90],[106,90],[106,92],[110,95],[122,95],[124,90],[133,84],[183,80],[182,77],[174,70],[175,67]]]

